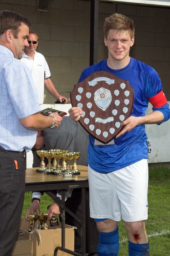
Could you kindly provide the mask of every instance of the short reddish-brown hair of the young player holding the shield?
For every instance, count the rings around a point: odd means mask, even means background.
[[[114,13],[104,22],[104,36],[108,37],[110,30],[116,30],[117,32],[128,31],[130,38],[134,37],[134,21],[122,14]]]

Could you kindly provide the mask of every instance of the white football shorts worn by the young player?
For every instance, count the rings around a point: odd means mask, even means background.
[[[148,160],[108,174],[88,166],[90,217],[127,222],[148,219]]]

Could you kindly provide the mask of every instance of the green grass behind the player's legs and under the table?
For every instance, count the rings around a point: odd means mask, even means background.
[[[22,217],[31,205],[31,192],[25,193]],[[52,203],[44,194],[41,197],[41,212]],[[149,165],[148,189],[149,218],[146,231],[150,244],[149,256],[170,255],[170,166],[168,164]],[[128,256],[128,239],[124,224],[119,223],[120,250],[118,256]]]

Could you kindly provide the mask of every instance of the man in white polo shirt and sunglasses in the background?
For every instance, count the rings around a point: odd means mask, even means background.
[[[31,75],[33,77],[34,83],[36,85],[36,90],[38,92],[39,104],[43,104],[44,101],[44,86],[60,102],[62,102],[62,99],[64,99],[64,103],[67,103],[67,98],[61,96],[57,92],[56,88],[52,83],[52,80],[50,79],[51,73],[46,59],[41,53],[36,52],[36,48],[38,46],[38,36],[36,32],[30,31],[27,40],[29,46],[26,47],[26,50],[22,54],[21,61],[24,62],[31,70]]]

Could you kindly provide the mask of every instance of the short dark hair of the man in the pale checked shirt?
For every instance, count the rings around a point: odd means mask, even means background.
[[[18,38],[21,24],[24,23],[29,28],[31,27],[30,21],[26,17],[13,11],[0,11],[0,36],[8,29]]]

